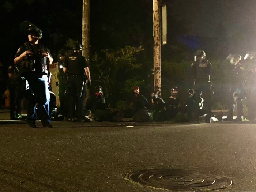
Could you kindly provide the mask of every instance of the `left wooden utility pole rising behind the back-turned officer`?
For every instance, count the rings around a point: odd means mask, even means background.
[[[83,0],[83,19],[82,19],[82,55],[89,63],[90,56],[90,0]]]

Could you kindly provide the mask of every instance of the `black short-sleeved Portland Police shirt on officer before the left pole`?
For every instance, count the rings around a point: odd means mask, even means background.
[[[88,65],[81,53],[73,52],[65,59],[63,67],[68,69],[70,75],[83,76],[84,68],[88,67]]]

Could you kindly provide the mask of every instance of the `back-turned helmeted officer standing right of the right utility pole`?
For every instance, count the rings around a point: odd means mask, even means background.
[[[200,95],[203,94],[204,106],[206,108],[206,123],[211,119],[211,81],[212,65],[206,60],[206,53],[203,50],[197,50],[195,53],[194,63],[191,65],[192,76],[195,86],[195,103],[196,109],[193,114],[193,121],[199,123]]]

